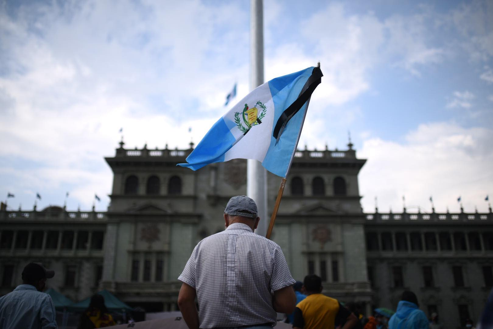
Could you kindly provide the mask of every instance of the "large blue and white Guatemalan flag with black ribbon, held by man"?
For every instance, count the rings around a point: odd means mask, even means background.
[[[322,75],[319,67],[311,67],[258,86],[217,120],[187,163],[178,165],[197,170],[215,162],[255,159],[285,178]]]

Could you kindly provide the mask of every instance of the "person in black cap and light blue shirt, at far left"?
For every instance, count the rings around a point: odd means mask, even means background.
[[[29,263],[22,271],[22,285],[0,297],[0,329],[56,329],[55,306],[42,292],[55,271]]]

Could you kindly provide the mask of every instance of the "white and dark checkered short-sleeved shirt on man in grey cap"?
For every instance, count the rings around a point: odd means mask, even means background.
[[[274,325],[271,290],[295,283],[281,248],[243,223],[199,242],[178,280],[195,288],[204,329]]]

